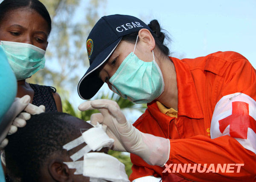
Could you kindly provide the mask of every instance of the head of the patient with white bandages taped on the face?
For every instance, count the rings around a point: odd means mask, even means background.
[[[7,172],[14,182],[128,182],[124,165],[105,154],[113,140],[104,133],[65,113],[32,116],[8,137]]]

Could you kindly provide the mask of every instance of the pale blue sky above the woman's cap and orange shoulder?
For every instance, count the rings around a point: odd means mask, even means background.
[[[110,14],[132,15],[147,24],[157,19],[172,40],[172,57],[236,51],[256,68],[256,0],[103,0],[99,16]],[[104,85],[100,91],[109,89]]]

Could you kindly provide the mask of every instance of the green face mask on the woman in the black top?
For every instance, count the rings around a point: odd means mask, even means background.
[[[44,68],[45,51],[43,49],[27,43],[2,40],[0,46],[5,51],[17,80],[25,80]]]

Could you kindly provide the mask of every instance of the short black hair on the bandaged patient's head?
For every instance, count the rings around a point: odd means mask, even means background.
[[[58,112],[34,115],[24,128],[8,136],[6,169],[12,180],[38,181],[43,162],[53,153],[63,154],[62,146],[78,137],[77,128],[64,119],[67,116]]]

